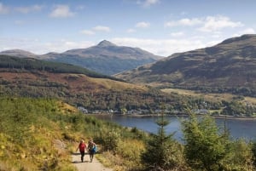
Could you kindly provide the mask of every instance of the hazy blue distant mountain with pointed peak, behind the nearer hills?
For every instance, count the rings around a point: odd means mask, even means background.
[[[151,54],[141,48],[117,46],[107,40],[90,48],[72,49],[60,54],[48,53],[37,55],[20,49],[3,51],[0,54],[63,62],[82,66],[91,71],[106,75],[128,71],[137,66],[143,66],[162,58],[161,56]]]

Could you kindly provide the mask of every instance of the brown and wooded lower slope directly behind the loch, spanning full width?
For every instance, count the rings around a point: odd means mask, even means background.
[[[255,116],[255,100],[235,96],[212,100],[202,95],[167,93],[159,89],[119,82],[77,66],[44,60],[0,56],[0,95],[54,98],[82,107],[89,113],[156,114],[165,104],[168,114],[186,109],[207,113]]]

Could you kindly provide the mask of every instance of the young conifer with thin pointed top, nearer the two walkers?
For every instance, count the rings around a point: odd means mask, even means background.
[[[182,145],[173,139],[172,134],[166,134],[165,127],[170,123],[162,112],[156,124],[159,126],[158,134],[153,134],[146,145],[146,151],[142,154],[142,161],[147,171],[150,170],[183,170]]]

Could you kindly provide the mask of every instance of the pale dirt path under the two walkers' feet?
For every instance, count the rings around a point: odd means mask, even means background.
[[[105,168],[102,163],[96,159],[96,157],[94,157],[93,162],[90,162],[88,154],[85,154],[84,162],[81,162],[79,152],[73,153],[72,162],[79,171],[113,171],[112,168]]]

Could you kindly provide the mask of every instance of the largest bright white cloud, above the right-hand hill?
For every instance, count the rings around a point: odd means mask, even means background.
[[[230,20],[229,17],[226,16],[208,16],[204,20],[203,26],[199,28],[199,31],[212,32],[212,31],[220,31],[224,28],[235,28],[243,26],[241,22],[234,22]]]

